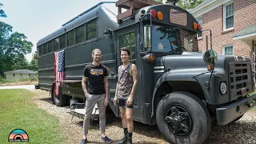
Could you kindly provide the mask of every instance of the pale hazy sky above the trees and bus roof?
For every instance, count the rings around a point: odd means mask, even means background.
[[[116,0],[107,0],[116,2]],[[13,26],[13,32],[25,34],[33,42],[32,53],[26,55],[30,62],[39,39],[58,30],[62,24],[76,17],[101,0],[1,0],[7,18],[0,21]],[[104,2],[104,1],[103,1]],[[111,10],[111,8],[110,8]],[[113,9],[112,9],[113,10]]]

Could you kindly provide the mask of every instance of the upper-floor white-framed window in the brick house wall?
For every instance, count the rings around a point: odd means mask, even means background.
[[[229,30],[234,27],[234,3],[229,3],[223,7],[223,29]]]

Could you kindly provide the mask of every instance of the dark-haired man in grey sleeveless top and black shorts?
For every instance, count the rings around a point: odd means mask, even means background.
[[[122,66],[118,67],[118,83],[114,96],[114,105],[118,105],[121,112],[124,137],[118,144],[131,144],[134,130],[133,101],[138,82],[138,70],[137,66],[129,62],[130,51],[128,49],[120,50],[120,55]]]

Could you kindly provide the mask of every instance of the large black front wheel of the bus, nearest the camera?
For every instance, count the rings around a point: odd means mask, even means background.
[[[156,120],[158,129],[170,143],[199,144],[210,134],[211,119],[206,106],[187,92],[166,94],[158,103]]]

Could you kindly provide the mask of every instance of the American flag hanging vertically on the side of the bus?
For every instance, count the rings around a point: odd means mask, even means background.
[[[64,50],[54,53],[54,93],[58,95],[59,86],[62,86],[62,81],[64,79]]]

